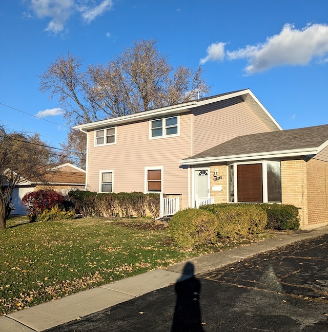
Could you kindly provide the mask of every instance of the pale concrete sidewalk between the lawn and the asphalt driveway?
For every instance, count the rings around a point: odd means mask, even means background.
[[[195,267],[195,274],[217,269],[255,254],[301,241],[305,238],[328,234],[328,226],[304,233],[277,234],[274,238],[259,243],[216,252],[189,260]],[[82,291],[52,302],[43,303],[25,310],[0,316],[0,332],[43,331],[70,322],[131,300],[156,289],[175,284],[177,280],[188,279],[183,274],[186,262],[132,276],[98,288]]]

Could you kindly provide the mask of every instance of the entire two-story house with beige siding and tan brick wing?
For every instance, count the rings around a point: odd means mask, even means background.
[[[179,201],[162,215],[210,203],[278,202],[300,208],[303,229],[328,222],[328,127],[282,131],[250,89],[74,129],[87,134],[87,190]]]

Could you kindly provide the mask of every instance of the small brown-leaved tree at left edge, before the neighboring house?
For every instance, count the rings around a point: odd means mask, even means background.
[[[0,229],[6,228],[6,210],[14,187],[22,179],[43,181],[51,161],[51,150],[38,134],[7,133],[0,127]]]

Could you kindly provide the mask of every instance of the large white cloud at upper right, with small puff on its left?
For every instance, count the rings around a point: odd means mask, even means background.
[[[201,59],[207,61],[220,60],[220,44],[224,57],[225,44],[217,43],[208,47],[208,56]],[[328,54],[328,25],[309,24],[303,29],[295,29],[294,25],[285,24],[279,34],[267,38],[264,43],[247,45],[235,51],[226,51],[228,60],[247,59],[244,68],[248,75],[283,65],[306,65],[314,59],[325,63]],[[219,59],[216,59],[215,57]],[[223,59],[223,58],[222,58]]]

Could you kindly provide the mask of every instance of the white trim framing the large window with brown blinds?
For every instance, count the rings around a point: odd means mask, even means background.
[[[263,203],[268,203],[268,163],[269,162],[281,162],[279,160],[252,160],[243,162],[234,162],[227,165],[227,188],[229,186],[229,166],[234,167],[234,202],[238,203],[238,188],[237,188],[237,165],[248,165],[248,164],[262,164],[262,192],[263,192]],[[281,170],[281,169],[280,169]],[[227,202],[229,202],[229,190],[227,190]],[[281,204],[277,203],[277,204]]]

